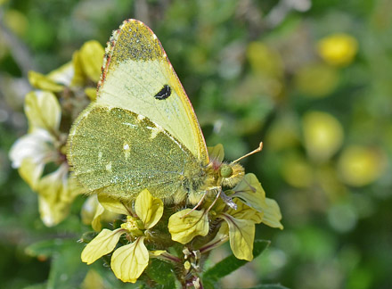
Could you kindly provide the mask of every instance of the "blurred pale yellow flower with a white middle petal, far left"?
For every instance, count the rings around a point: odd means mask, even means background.
[[[61,134],[61,107],[52,92],[30,92],[25,99],[29,134],[12,145],[12,167],[38,194],[41,219],[50,227],[67,217],[69,206],[81,193],[78,183],[69,177],[62,153],[65,135]],[[63,142],[61,143],[61,139]],[[45,165],[53,162],[58,169],[43,177]]]

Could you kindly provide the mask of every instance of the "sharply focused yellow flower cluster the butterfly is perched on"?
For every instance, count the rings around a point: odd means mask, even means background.
[[[211,159],[223,161],[222,145],[208,152]],[[169,261],[184,284],[198,283],[199,262],[212,249],[229,241],[236,258],[250,261],[255,225],[265,223],[282,229],[278,204],[265,197],[254,174],[246,174],[237,186],[221,192],[220,198],[216,197],[216,191],[206,194],[197,208],[191,204],[189,208],[186,204],[164,204],[147,190],[130,203],[99,196],[93,227],[99,227],[97,219],[104,211],[123,217],[119,217],[120,225],[115,221],[113,230],[104,228],[86,245],[82,260],[91,264],[112,252],[110,267],[116,277],[135,283],[148,267],[150,258],[158,258]],[[174,249],[178,246],[183,248],[180,253]]]

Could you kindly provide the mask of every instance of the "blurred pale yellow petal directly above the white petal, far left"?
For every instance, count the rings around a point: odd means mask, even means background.
[[[29,131],[44,128],[55,135],[61,120],[61,107],[53,93],[48,91],[32,91],[26,95],[24,105],[29,120]]]

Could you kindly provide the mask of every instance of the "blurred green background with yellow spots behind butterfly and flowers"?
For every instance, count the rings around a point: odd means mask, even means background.
[[[58,68],[87,40],[105,45],[135,18],[165,47],[208,145],[228,160],[265,145],[243,163],[285,228],[257,226],[272,245],[222,286],[392,288],[390,15],[389,0],[0,1],[0,287],[45,282],[50,260],[26,247],[86,231],[83,197],[47,228],[10,166],[27,72]]]

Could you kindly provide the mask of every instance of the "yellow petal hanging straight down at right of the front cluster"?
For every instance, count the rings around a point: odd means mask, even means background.
[[[253,242],[255,240],[255,223],[249,219],[235,219],[228,214],[221,214],[229,225],[230,247],[236,258],[253,260]]]

